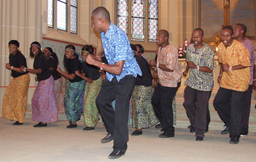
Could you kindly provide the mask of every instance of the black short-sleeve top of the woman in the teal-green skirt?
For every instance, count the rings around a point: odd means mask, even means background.
[[[81,65],[82,63],[77,59],[68,59],[67,61],[67,70],[68,70],[68,74],[75,74],[75,72],[78,70],[79,72],[81,72]],[[82,80],[81,77],[78,77],[77,75],[75,76],[75,78],[73,80],[69,80],[70,82],[80,82]]]

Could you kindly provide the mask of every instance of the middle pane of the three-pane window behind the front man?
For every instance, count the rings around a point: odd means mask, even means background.
[[[131,39],[132,40],[145,40],[145,1],[133,1],[131,14]]]

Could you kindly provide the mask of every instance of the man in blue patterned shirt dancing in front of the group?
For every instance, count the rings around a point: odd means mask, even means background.
[[[127,35],[110,20],[110,13],[104,7],[96,8],[91,15],[92,27],[100,33],[102,47],[109,64],[95,60],[88,55],[89,64],[106,71],[106,79],[96,98],[106,130],[109,132],[101,143],[114,139],[113,152],[109,158],[119,158],[127,149],[130,97],[137,75],[142,75],[134,57]],[[115,111],[111,101],[116,100]]]

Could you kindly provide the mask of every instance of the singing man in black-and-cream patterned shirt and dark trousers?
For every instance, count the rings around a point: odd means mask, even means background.
[[[189,77],[185,81],[187,86],[184,90],[183,106],[191,123],[190,132],[196,130],[196,141],[203,141],[204,132],[207,130],[209,123],[206,122],[206,114],[214,87],[214,51],[202,42],[203,36],[204,32],[200,28],[192,32],[194,44],[187,48],[187,66],[183,72],[186,76],[189,70]]]

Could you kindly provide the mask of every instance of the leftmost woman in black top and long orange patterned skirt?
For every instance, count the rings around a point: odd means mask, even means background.
[[[27,62],[18,49],[19,42],[10,40],[8,44],[10,55],[6,68],[11,70],[13,78],[4,95],[2,117],[15,120],[16,122],[13,125],[21,125],[27,110],[30,76],[28,72],[20,71],[20,67],[27,67]]]

